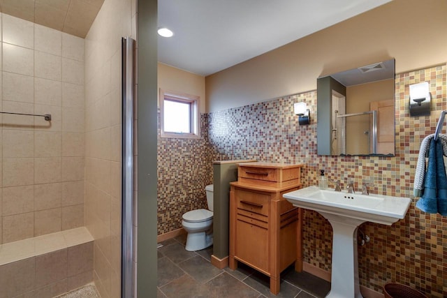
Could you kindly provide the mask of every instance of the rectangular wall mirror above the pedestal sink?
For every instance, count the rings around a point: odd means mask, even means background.
[[[394,156],[395,59],[317,79],[317,153]]]

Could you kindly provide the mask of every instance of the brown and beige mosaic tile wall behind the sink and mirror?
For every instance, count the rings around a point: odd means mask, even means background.
[[[409,117],[409,84],[418,82],[430,83],[430,117]],[[392,226],[373,223],[361,226],[371,242],[358,249],[360,284],[382,292],[385,283],[397,281],[429,297],[446,297],[447,219],[421,213],[415,209],[416,200],[412,196],[420,142],[434,132],[439,112],[447,108],[446,66],[397,75],[395,87],[395,157],[317,156],[316,91],[210,113],[210,148],[206,150],[211,151],[204,155],[209,161],[256,158],[305,163],[303,186],[315,185],[316,174],[324,167],[330,179],[354,179],[361,185],[362,179],[372,177],[375,184],[372,193],[412,198],[404,220]],[[310,106],[309,126],[299,126],[293,114],[293,103],[299,101]],[[192,145],[186,148],[189,147]],[[305,262],[330,270],[332,228],[316,212],[305,211],[303,245]]]

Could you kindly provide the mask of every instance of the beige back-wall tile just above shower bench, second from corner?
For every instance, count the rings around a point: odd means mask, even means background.
[[[34,212],[34,236],[61,231],[61,208]]]

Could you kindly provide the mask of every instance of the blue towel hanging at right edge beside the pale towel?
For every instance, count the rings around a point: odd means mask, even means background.
[[[428,149],[427,172],[425,172],[424,177],[424,194],[420,197],[418,202],[416,202],[416,207],[427,213],[438,212],[436,143],[437,141],[434,139],[430,142],[430,148]]]

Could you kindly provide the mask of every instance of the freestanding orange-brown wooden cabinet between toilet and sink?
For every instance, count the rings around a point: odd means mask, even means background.
[[[279,292],[280,274],[295,263],[302,270],[301,211],[282,198],[300,188],[302,165],[244,163],[230,183],[231,269],[243,262],[270,277]]]

